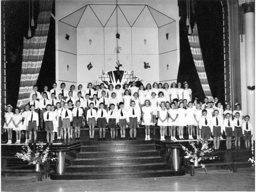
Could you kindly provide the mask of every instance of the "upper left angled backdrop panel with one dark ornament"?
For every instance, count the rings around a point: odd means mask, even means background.
[[[61,21],[58,23],[59,50],[76,54],[76,28]],[[69,35],[69,40],[65,39],[66,34]]]

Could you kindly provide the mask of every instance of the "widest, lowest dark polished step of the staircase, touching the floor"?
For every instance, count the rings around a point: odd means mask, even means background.
[[[127,179],[127,178],[148,178],[148,177],[171,177],[182,176],[186,174],[185,169],[178,171],[167,170],[149,170],[149,171],[129,171],[129,172],[87,172],[87,173],[73,173],[66,172],[63,174],[52,174],[52,180],[92,180],[92,179]]]

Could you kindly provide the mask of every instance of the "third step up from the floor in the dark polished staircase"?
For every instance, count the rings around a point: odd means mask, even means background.
[[[163,163],[164,157],[127,157],[111,159],[74,159],[71,165],[123,165],[123,164],[146,164],[146,163]]]

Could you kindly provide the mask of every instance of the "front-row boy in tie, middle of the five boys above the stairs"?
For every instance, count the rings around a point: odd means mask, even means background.
[[[114,109],[115,109],[115,104],[113,104],[113,103],[110,104],[110,110],[108,111],[107,123],[108,123],[108,128],[110,128],[111,141],[115,140],[116,125],[119,121],[117,111],[115,111]]]

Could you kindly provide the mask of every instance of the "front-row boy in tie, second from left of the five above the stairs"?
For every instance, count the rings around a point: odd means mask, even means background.
[[[104,109],[104,104],[100,103],[100,109],[97,111],[97,127],[99,128],[99,134],[100,138],[98,141],[102,140],[102,131],[103,131],[103,141],[105,141],[105,134],[106,134],[106,125],[107,125],[107,117],[108,117],[108,112]]]

